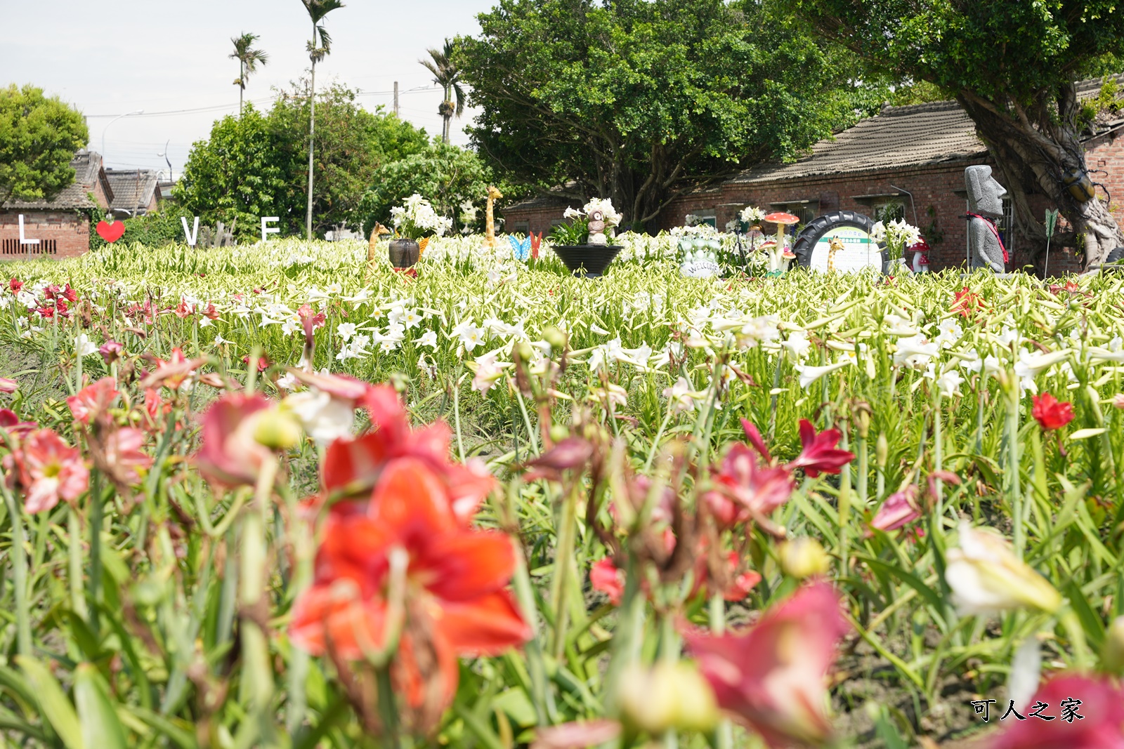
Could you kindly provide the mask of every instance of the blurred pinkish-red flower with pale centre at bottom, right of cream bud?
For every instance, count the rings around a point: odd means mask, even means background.
[[[688,632],[686,640],[718,705],[770,747],[791,747],[819,743],[831,733],[824,677],[849,630],[839,595],[827,583],[814,583],[744,632]]]

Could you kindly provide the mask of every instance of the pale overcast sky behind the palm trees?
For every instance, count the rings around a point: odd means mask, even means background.
[[[491,0],[345,0],[327,17],[332,54],[317,65],[320,82],[337,80],[365,93],[359,101],[390,110],[395,81],[401,115],[441,135],[441,91],[418,64],[445,37],[479,33],[475,16]],[[250,77],[246,98],[259,108],[308,67],[311,22],[300,0],[0,0],[4,42],[0,84],[31,83],[89,117],[90,147],[121,168],[167,168],[178,176],[191,144],[215,119],[238,109],[238,64],[230,37],[257,34],[269,64]],[[410,89],[425,89],[410,91]],[[145,115],[112,122],[143,109]],[[180,110],[199,110],[181,112]],[[176,113],[163,113],[176,112]],[[453,143],[472,113],[453,120]]]

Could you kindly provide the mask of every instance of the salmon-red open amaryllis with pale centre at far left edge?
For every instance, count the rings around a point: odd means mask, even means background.
[[[90,483],[82,454],[51,429],[29,433],[4,456],[3,467],[9,483],[18,482],[24,490],[24,508],[33,514],[51,510],[58,500],[75,501]]]

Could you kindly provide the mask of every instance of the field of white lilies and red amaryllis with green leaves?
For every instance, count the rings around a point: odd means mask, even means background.
[[[0,743],[1124,746],[1124,280],[678,241],[7,266]]]

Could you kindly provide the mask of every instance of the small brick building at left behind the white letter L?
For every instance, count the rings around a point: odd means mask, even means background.
[[[80,150],[71,166],[74,182],[54,200],[11,200],[0,205],[0,259],[78,257],[90,249],[90,220],[83,211],[109,210],[114,190],[100,154]],[[20,243],[20,216],[24,217],[24,237],[38,239],[39,244]]]

